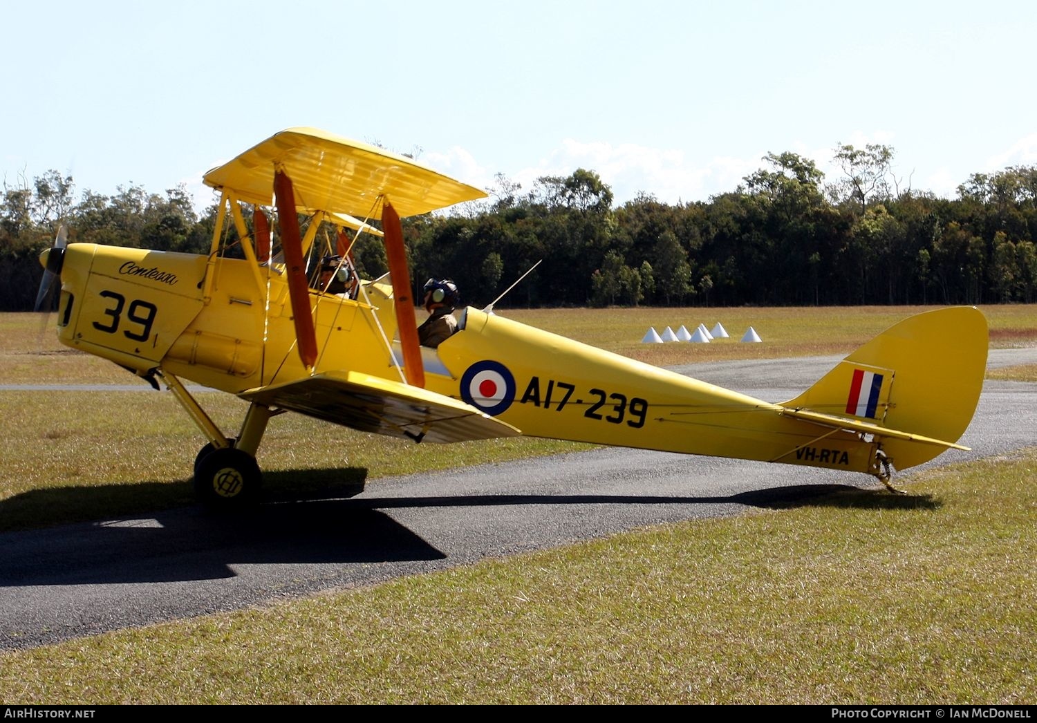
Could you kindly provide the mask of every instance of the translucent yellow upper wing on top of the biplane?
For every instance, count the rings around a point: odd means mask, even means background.
[[[291,178],[300,205],[360,218],[381,219],[384,195],[401,217],[486,196],[413,159],[312,128],[275,134],[203,180],[233,190],[243,201],[270,205],[275,166]]]

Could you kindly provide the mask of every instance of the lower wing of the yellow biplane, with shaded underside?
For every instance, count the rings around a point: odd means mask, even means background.
[[[416,442],[461,442],[522,434],[457,399],[356,371],[315,374],[250,389],[240,396]]]

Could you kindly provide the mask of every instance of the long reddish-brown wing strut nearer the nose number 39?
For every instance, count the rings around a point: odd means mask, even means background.
[[[296,192],[291,187],[291,178],[280,170],[274,173],[274,198],[277,202],[277,227],[281,233],[285,275],[288,277],[291,316],[296,322],[299,358],[307,369],[312,369],[317,360],[317,336],[313,329],[310,287],[306,280],[306,262],[303,260],[303,240],[299,234],[299,217],[296,215]]]

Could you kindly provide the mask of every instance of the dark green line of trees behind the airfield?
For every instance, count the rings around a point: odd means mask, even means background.
[[[1032,303],[1037,298],[1037,167],[974,173],[957,197],[897,177],[886,145],[840,144],[826,182],[797,154],[768,154],[734,190],[670,204],[642,193],[613,205],[593,171],[532,189],[498,175],[486,200],[404,219],[415,282],[452,278],[485,305],[539,259],[509,306],[735,306]],[[206,253],[217,206],[197,214],[183,187],[136,186],[74,200],[48,171],[3,185],[0,309],[32,306],[36,259],[64,223],[71,242]],[[233,231],[231,230],[231,234]],[[385,273],[381,242],[358,266]]]

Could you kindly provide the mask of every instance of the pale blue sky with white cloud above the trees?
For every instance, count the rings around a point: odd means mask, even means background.
[[[290,6],[290,11],[279,7]],[[894,147],[954,197],[1037,164],[1037,3],[5,2],[0,177],[187,184],[293,126],[485,187],[590,168],[617,203],[733,190],[768,151]]]

